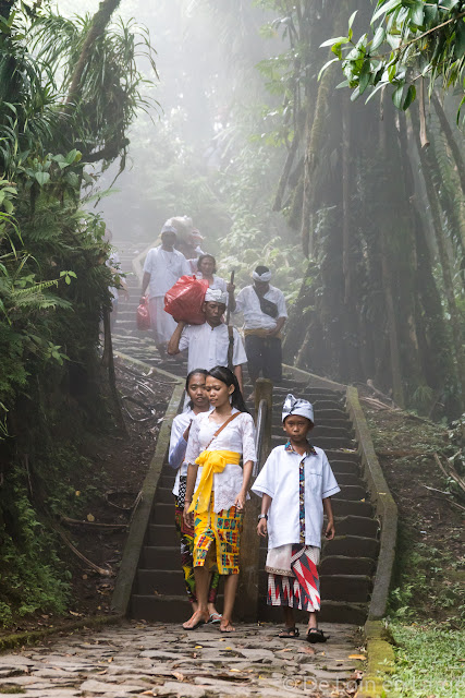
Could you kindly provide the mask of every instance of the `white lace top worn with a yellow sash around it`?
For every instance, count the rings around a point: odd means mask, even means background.
[[[233,409],[233,413],[238,410]],[[221,424],[209,419],[211,412],[200,412],[194,418],[187,442],[185,460],[195,464],[195,459],[206,449],[212,435]],[[208,450],[233,450],[242,455],[243,462],[256,461],[254,420],[247,412],[236,417],[208,446]],[[201,467],[197,471],[195,489],[201,476]],[[242,489],[242,468],[227,464],[222,472],[213,474],[215,512],[234,506],[235,498]],[[247,496],[248,498],[248,496]]]

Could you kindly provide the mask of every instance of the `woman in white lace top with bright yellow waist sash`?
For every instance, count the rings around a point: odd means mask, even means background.
[[[183,625],[185,629],[194,629],[208,622],[209,553],[215,544],[218,571],[225,576],[220,630],[230,633],[234,630],[231,618],[238,580],[244,504],[256,460],[255,428],[232,371],[215,366],[208,372],[206,388],[215,409],[194,418],[185,456],[188,469],[184,518],[188,525],[195,519],[198,609]]]

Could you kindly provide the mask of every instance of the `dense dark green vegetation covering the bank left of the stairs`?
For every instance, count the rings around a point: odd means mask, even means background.
[[[65,609],[59,516],[78,510],[72,474],[89,469],[83,446],[115,413],[99,333],[119,278],[105,222],[85,203],[102,168],[124,165],[125,132],[147,104],[135,57],[151,60],[151,49],[133,26],[108,24],[108,3],[99,13],[86,44],[89,16],[0,7],[2,626]]]

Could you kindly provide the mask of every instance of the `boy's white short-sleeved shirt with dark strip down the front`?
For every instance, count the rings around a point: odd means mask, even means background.
[[[268,547],[299,543],[299,465],[305,458],[305,544],[321,547],[322,501],[340,492],[326,453],[301,456],[289,446],[277,446],[252,486],[252,492],[272,498],[268,512]]]

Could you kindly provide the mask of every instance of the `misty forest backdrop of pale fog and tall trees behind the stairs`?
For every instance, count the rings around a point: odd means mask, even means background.
[[[124,1],[157,51],[158,103],[130,132],[115,194],[98,203],[118,243],[154,243],[187,215],[238,286],[273,269],[291,306],[289,363],[344,383],[370,381],[435,419],[463,409],[463,139],[457,98],[406,113],[351,101],[321,43],[350,12],[301,0]],[[95,10],[91,3],[83,9]],[[72,12],[71,2],[61,10]],[[81,8],[79,8],[81,10]],[[113,21],[117,20],[113,17]],[[148,75],[147,75],[148,76]],[[150,76],[154,79],[154,75]],[[421,125],[421,120],[425,122]],[[429,147],[423,147],[427,130]],[[110,186],[118,163],[100,179]]]

